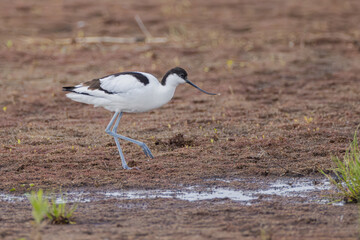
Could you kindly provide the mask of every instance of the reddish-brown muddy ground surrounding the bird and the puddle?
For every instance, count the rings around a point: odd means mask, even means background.
[[[357,0],[0,1],[0,190],[217,186],[214,179],[319,178],[360,123]],[[144,42],[134,16],[153,37]],[[79,43],[76,37],[137,39]],[[161,78],[182,66],[220,96],[179,86],[164,107],[125,114],[123,170],[104,129],[111,113],[62,86],[119,71]],[[246,181],[229,183],[247,188]],[[320,196],[318,196],[320,198]],[[125,207],[124,207],[125,206]],[[31,238],[31,208],[2,201],[0,238]],[[108,199],[81,203],[75,225],[43,239],[356,239],[355,205],[274,198]]]

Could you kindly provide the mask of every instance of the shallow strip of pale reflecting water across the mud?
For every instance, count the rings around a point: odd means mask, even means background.
[[[242,182],[249,179],[235,179],[224,180],[216,179],[226,183]],[[231,187],[213,187],[206,188],[201,186],[191,186],[179,190],[111,190],[111,191],[67,191],[64,194],[66,199],[57,198],[57,202],[94,202],[101,200],[117,199],[117,200],[131,200],[131,199],[155,199],[155,198],[169,198],[179,199],[184,201],[206,201],[214,199],[229,199],[237,201],[242,204],[252,204],[258,201],[271,201],[274,196],[280,197],[300,197],[304,198],[305,202],[314,202],[321,199],[320,192],[330,189],[330,184],[326,179],[312,180],[312,179],[282,179],[273,183],[253,181],[254,183],[263,186],[261,189],[241,190]],[[314,197],[310,195],[315,194]],[[27,200],[26,195],[14,195],[7,193],[0,193],[0,201],[17,202]],[[324,203],[324,201],[322,201]]]

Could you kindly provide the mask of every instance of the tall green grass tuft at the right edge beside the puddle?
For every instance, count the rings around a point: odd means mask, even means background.
[[[350,143],[349,149],[346,151],[344,159],[341,160],[336,156],[331,159],[336,167],[331,171],[335,174],[335,178],[320,170],[330,182],[340,191],[340,195],[345,202],[360,202],[360,150],[357,140],[357,130],[354,139]]]

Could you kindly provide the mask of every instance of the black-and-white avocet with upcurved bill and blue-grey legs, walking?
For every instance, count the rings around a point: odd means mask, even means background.
[[[188,83],[206,94],[216,95],[190,82],[186,71],[180,67],[169,70],[161,82],[149,73],[121,72],[73,87],[63,87],[63,91],[69,91],[66,96],[74,101],[93,104],[95,107],[104,107],[115,112],[105,132],[114,137],[123,168],[131,169],[126,164],[119,138],[139,145],[147,157],[154,156],[145,143],[116,133],[122,114],[146,112],[161,107],[171,100],[176,87],[182,83]]]

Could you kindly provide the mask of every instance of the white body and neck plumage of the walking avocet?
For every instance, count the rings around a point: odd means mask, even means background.
[[[163,86],[153,75],[137,73],[146,76],[149,83],[145,85],[131,74],[110,75],[99,79],[101,89],[90,89],[80,84],[66,96],[113,112],[146,112],[169,102],[180,83]]]

